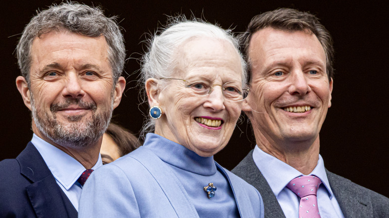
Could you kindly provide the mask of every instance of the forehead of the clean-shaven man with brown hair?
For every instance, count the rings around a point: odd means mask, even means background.
[[[309,31],[264,28],[252,35],[248,49],[250,76],[270,65],[320,63],[326,68],[326,55],[316,35]]]

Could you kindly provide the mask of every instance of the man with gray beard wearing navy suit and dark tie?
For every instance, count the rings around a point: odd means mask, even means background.
[[[31,19],[16,50],[34,134],[16,159],[0,162],[0,218],[76,218],[125,88],[123,35],[100,8],[61,3]]]

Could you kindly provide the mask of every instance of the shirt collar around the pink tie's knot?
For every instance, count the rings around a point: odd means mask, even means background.
[[[292,166],[284,163],[283,161],[268,153],[265,153],[257,145],[254,148],[252,157],[254,159],[255,165],[265,177],[276,197],[292,179],[303,175]],[[315,175],[316,177],[320,178],[322,184],[327,189],[329,198],[332,199],[333,193],[330,188],[330,183],[328,182],[326,170],[324,168],[324,161],[320,154],[315,169],[309,175]]]

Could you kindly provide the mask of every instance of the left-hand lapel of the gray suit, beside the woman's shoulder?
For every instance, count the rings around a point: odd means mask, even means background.
[[[265,177],[259,171],[252,158],[251,150],[248,155],[232,170],[232,173],[245,180],[248,184],[254,186],[262,196],[263,206],[265,208],[265,218],[285,218],[280,204]]]

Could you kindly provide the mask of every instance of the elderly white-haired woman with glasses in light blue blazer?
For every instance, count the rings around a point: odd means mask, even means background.
[[[142,66],[154,133],[92,173],[79,217],[263,217],[258,191],[213,160],[248,94],[245,67],[229,30],[179,18],[156,34]]]

